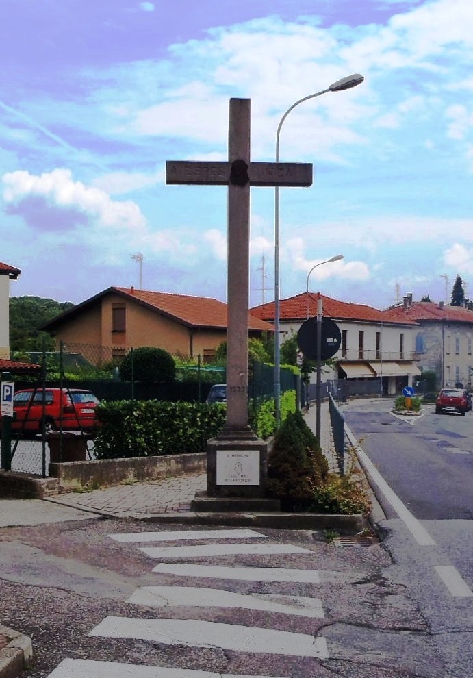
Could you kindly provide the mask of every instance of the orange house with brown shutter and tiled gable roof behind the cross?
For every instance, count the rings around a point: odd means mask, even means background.
[[[73,348],[93,364],[144,346],[174,355],[201,355],[203,362],[209,362],[227,339],[227,304],[206,297],[110,287],[42,329],[55,337],[57,349],[64,342],[67,351]],[[248,336],[261,337],[272,330],[270,323],[248,314]],[[78,350],[78,344],[84,350]]]

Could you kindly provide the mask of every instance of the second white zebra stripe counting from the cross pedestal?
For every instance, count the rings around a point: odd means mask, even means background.
[[[201,558],[216,555],[283,555],[312,553],[310,549],[286,544],[203,544],[188,547],[142,547],[151,558]]]

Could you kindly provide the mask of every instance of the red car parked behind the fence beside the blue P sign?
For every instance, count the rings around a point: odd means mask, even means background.
[[[13,396],[12,431],[41,434],[62,430],[90,431],[97,426],[99,399],[81,388],[26,388]]]

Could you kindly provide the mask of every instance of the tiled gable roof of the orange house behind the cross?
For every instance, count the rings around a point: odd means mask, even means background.
[[[105,294],[120,294],[133,299],[149,309],[159,312],[188,327],[206,327],[223,329],[227,327],[227,304],[218,299],[207,297],[189,297],[185,294],[168,294],[166,292],[149,292],[135,288],[110,287],[94,297],[77,304],[77,306],[45,323],[41,329],[51,330],[60,325],[63,318],[71,318],[84,307],[101,299]],[[261,318],[248,313],[248,329],[272,331],[274,328]]]

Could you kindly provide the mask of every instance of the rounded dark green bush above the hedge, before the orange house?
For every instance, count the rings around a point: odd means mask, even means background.
[[[174,381],[176,364],[168,351],[153,346],[144,346],[130,351],[120,362],[118,372],[122,381],[133,379],[143,384],[155,384],[160,381]]]

